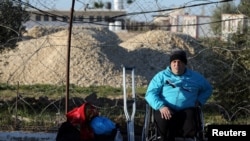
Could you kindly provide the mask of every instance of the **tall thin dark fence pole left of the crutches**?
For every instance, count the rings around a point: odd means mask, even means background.
[[[68,35],[68,50],[67,50],[67,68],[66,68],[66,97],[65,97],[65,113],[68,113],[68,103],[69,103],[69,74],[70,74],[70,46],[71,46],[71,31],[72,31],[72,21],[74,14],[74,6],[75,0],[72,0],[72,7],[70,13],[70,21],[69,21],[69,35]]]

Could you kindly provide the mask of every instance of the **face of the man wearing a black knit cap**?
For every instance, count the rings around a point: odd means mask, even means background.
[[[181,60],[176,59],[170,63],[170,67],[175,75],[181,75],[185,72],[186,65]]]

